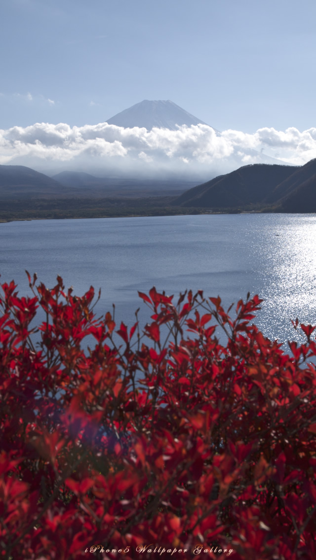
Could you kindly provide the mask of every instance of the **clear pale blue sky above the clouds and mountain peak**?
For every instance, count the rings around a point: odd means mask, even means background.
[[[219,130],[315,124],[314,0],[1,0],[0,12],[1,128],[99,123],[143,99]]]

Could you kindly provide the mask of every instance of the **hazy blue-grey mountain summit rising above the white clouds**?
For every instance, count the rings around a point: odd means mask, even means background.
[[[149,101],[148,99],[117,113],[108,119],[107,123],[116,124],[117,127],[140,127],[147,130],[151,130],[153,127],[177,130],[177,125],[186,124],[187,127],[190,127],[193,124],[207,124],[173,101]]]

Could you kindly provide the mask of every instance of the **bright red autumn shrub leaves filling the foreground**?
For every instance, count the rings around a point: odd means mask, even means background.
[[[1,558],[316,558],[313,327],[286,354],[251,324],[258,296],[231,319],[152,288],[127,329],[92,287],[29,282],[0,300]]]

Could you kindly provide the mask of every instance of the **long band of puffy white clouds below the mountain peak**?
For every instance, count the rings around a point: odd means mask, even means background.
[[[203,124],[148,131],[107,123],[83,127],[36,123],[0,129],[0,164],[42,169],[62,164],[68,169],[80,166],[143,174],[158,169],[208,174],[211,169],[227,172],[240,165],[272,163],[269,157],[294,165],[315,158],[316,128],[304,132],[260,128],[246,134],[238,130],[216,133]]]

